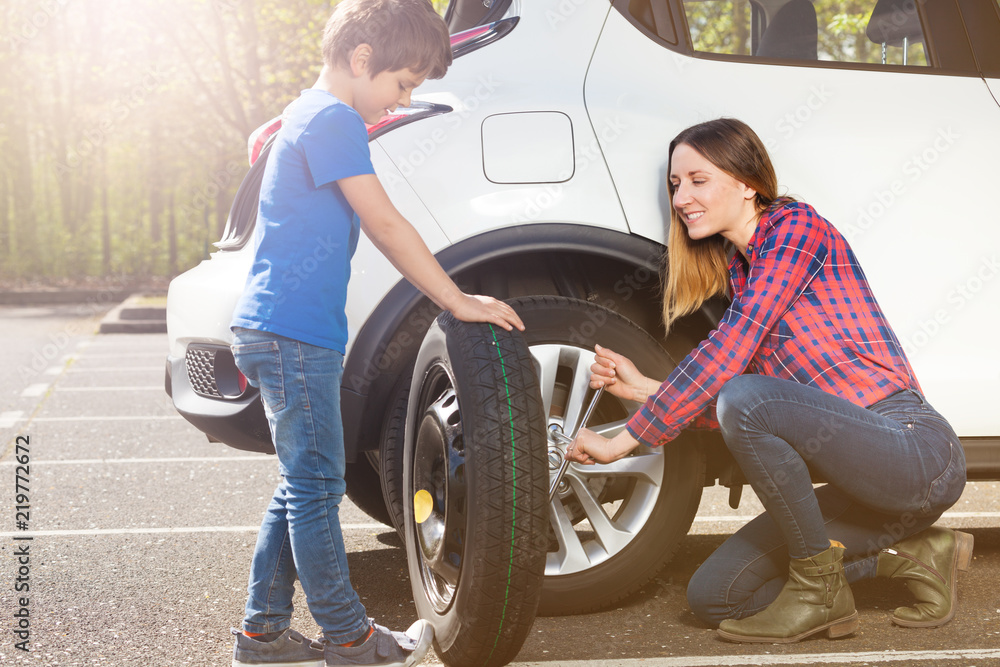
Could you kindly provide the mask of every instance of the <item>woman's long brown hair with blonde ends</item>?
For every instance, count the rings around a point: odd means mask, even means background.
[[[674,149],[686,144],[713,165],[757,191],[758,213],[778,199],[778,179],[760,137],[735,118],[719,118],[692,125],[670,142],[667,190],[670,193],[670,233],[663,265],[663,324],[667,331],[680,317],[698,310],[729,286],[729,242],[721,235],[692,240],[674,208],[670,162]],[[791,201],[782,197],[780,201]]]

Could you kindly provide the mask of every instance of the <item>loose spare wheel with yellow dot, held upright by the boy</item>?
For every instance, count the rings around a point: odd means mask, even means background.
[[[545,421],[519,332],[438,317],[417,353],[403,451],[418,614],[449,665],[505,665],[545,565]]]

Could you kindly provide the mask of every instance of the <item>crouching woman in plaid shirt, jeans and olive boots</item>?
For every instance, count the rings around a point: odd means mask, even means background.
[[[666,327],[727,286],[732,305],[663,384],[598,346],[591,386],[644,405],[614,438],[581,431],[567,458],[614,461],[688,425],[722,431],[767,510],[689,584],[691,608],[724,639],[850,634],[849,582],[875,576],[904,580],[917,600],[896,624],[947,623],[972,536],[932,524],[962,494],[963,450],[853,251],[812,207],[778,196],[766,149],[740,121],[681,132],[668,174]],[[810,471],[828,484],[814,490]]]

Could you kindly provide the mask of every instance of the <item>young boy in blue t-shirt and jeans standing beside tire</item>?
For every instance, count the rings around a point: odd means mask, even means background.
[[[410,282],[464,321],[524,326],[500,301],[461,292],[374,174],[376,123],[451,64],[429,0],[344,0],[323,35],[316,84],[285,110],[261,186],[256,254],[233,316],[233,353],[260,387],[282,481],[250,570],[233,665],[410,665],[432,639],[375,625],[351,586],[338,506],[346,489],[340,383],[344,305],[360,228]],[[355,216],[357,214],[357,216]],[[289,628],[296,576],[323,630]]]

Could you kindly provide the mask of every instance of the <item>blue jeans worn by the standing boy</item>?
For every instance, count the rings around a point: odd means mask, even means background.
[[[327,640],[368,630],[351,586],[338,510],[344,482],[343,355],[263,331],[236,329],[236,366],[260,388],[282,480],[264,514],[250,567],[243,627],[289,627],[295,577]]]

